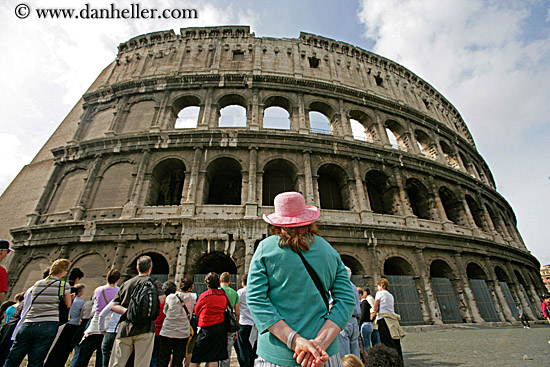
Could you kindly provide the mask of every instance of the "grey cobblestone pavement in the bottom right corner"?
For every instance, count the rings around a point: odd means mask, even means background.
[[[550,366],[550,325],[407,330],[406,367]]]

